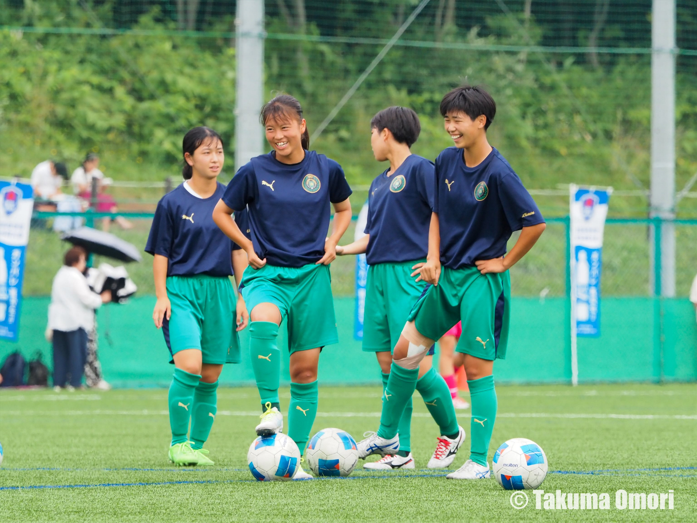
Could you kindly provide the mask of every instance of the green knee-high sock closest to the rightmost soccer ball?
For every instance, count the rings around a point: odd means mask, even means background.
[[[480,465],[487,465],[489,441],[496,421],[496,388],[493,376],[467,380],[472,402],[472,422],[470,425],[470,460]]]

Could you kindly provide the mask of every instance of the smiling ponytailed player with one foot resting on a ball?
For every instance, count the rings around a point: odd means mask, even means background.
[[[305,449],[317,413],[317,365],[325,345],[337,343],[329,264],[351,223],[351,188],[341,166],[309,151],[302,107],[279,95],[261,109],[273,149],[256,156],[228,184],[213,211],[218,227],[245,251],[249,267],[240,291],[250,310],[250,355],[261,396],[259,435],[283,427],[278,387],[278,328],[288,324],[291,402],[288,435]],[[330,206],[334,207],[329,237]],[[251,241],[231,219],[247,209]],[[298,469],[294,479],[312,478]]]

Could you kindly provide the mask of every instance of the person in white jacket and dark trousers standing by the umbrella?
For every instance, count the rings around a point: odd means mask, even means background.
[[[51,288],[48,329],[53,337],[53,384],[68,390],[82,386],[87,351],[87,332],[94,324],[94,311],[112,301],[111,291],[97,294],[84,277],[87,253],[82,247],[66,252]]]

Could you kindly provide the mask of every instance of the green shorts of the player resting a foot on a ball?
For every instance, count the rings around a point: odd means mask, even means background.
[[[305,351],[339,342],[328,265],[247,267],[240,285],[247,310],[273,303],[288,320],[288,349]]]

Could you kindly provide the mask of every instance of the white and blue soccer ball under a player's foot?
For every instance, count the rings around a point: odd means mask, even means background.
[[[259,481],[291,480],[300,467],[300,449],[286,434],[259,436],[250,445],[247,463]]]

